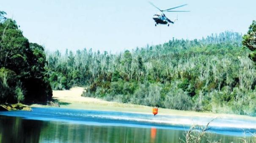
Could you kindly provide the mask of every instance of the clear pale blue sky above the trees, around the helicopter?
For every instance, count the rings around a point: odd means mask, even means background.
[[[195,39],[226,30],[245,34],[256,20],[256,0],[150,0],[175,24],[154,26],[158,12],[148,0],[0,0],[0,11],[16,20],[30,42],[47,50],[112,53],[165,43],[172,38]]]

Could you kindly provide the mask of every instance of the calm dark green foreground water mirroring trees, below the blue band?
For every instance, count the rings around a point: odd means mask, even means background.
[[[95,126],[0,116],[0,143],[179,143],[183,130]],[[216,135],[223,143],[240,137]],[[206,141],[206,140],[205,140]],[[204,142],[204,141],[203,141]]]

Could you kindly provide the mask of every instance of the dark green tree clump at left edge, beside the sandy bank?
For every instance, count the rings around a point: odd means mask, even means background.
[[[44,102],[52,97],[44,48],[29,43],[0,11],[0,103]]]

